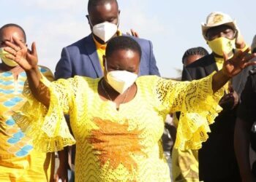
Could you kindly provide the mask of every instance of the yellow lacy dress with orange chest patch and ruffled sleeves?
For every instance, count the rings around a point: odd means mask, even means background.
[[[42,78],[50,90],[49,108],[26,89],[29,102],[13,117],[42,151],[61,150],[76,141],[75,181],[167,182],[170,171],[160,142],[165,117],[181,111],[176,147],[200,148],[220,111],[223,90],[213,95],[211,79],[175,82],[140,76],[135,98],[117,111],[115,103],[99,97],[100,79],[75,76],[50,83]],[[75,140],[63,113],[70,116]]]

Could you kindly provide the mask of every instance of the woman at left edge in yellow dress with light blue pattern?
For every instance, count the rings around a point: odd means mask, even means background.
[[[0,181],[53,181],[54,154],[34,150],[32,138],[24,135],[12,119],[13,111],[26,103],[22,94],[26,73],[13,60],[5,58],[8,54],[4,51],[5,43],[14,42],[13,36],[26,42],[26,34],[19,25],[0,28]],[[40,66],[39,71],[53,80],[48,68]]]

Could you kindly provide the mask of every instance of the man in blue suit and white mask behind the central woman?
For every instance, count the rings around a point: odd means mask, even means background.
[[[88,12],[86,17],[92,33],[63,48],[56,66],[56,79],[75,75],[102,77],[105,46],[112,37],[123,35],[118,31],[120,11],[116,0],[89,0]],[[142,49],[140,75],[159,75],[151,41],[132,38],[138,41]]]

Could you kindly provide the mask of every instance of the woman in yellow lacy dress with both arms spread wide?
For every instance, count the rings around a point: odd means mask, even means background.
[[[108,42],[100,79],[75,76],[48,82],[37,68],[37,51],[18,39],[7,58],[24,70],[29,101],[13,117],[41,151],[76,142],[75,181],[170,181],[160,138],[165,116],[181,111],[176,148],[199,149],[206,141],[222,97],[221,87],[247,63],[246,52],[222,71],[193,82],[138,76],[140,46],[127,36]],[[73,136],[64,114],[69,114]]]

